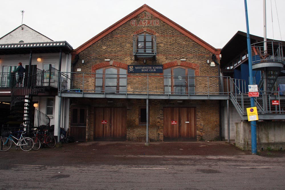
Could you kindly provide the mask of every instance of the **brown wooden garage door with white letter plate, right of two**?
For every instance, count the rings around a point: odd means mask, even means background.
[[[164,107],[164,141],[196,141],[196,108]]]

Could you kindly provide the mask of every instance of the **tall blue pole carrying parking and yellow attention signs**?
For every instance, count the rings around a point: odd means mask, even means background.
[[[249,19],[247,15],[247,0],[245,0],[245,20],[247,23],[247,52],[249,54],[249,84],[253,85],[251,46],[250,46],[250,37],[249,37]],[[255,106],[254,97],[250,98],[250,103],[251,107]],[[256,121],[251,121],[251,154],[257,154]]]

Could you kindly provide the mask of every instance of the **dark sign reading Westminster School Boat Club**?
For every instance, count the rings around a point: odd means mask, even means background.
[[[162,65],[129,65],[128,73],[163,73]]]

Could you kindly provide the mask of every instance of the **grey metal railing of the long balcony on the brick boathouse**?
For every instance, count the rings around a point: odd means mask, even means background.
[[[60,73],[61,80],[64,78],[67,84],[61,85],[59,92],[148,95],[229,95],[230,92],[229,77],[105,73],[96,77],[96,73]],[[72,75],[73,80],[64,75]],[[223,85],[221,91],[220,85]]]

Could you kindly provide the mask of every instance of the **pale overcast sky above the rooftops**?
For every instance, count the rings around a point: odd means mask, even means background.
[[[0,37],[21,25],[24,10],[23,24],[75,49],[143,4],[215,48],[246,32],[244,0],[3,0]],[[247,0],[247,8],[250,34],[263,36],[263,0]],[[267,38],[285,41],[284,8],[285,0],[266,1]]]

